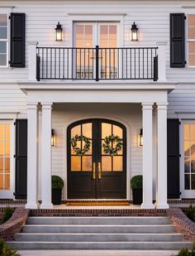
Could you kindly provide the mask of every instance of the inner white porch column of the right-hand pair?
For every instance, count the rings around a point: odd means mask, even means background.
[[[142,209],[153,209],[152,203],[152,172],[153,172],[153,138],[152,138],[152,106],[153,103],[142,103],[143,126],[143,203]]]

